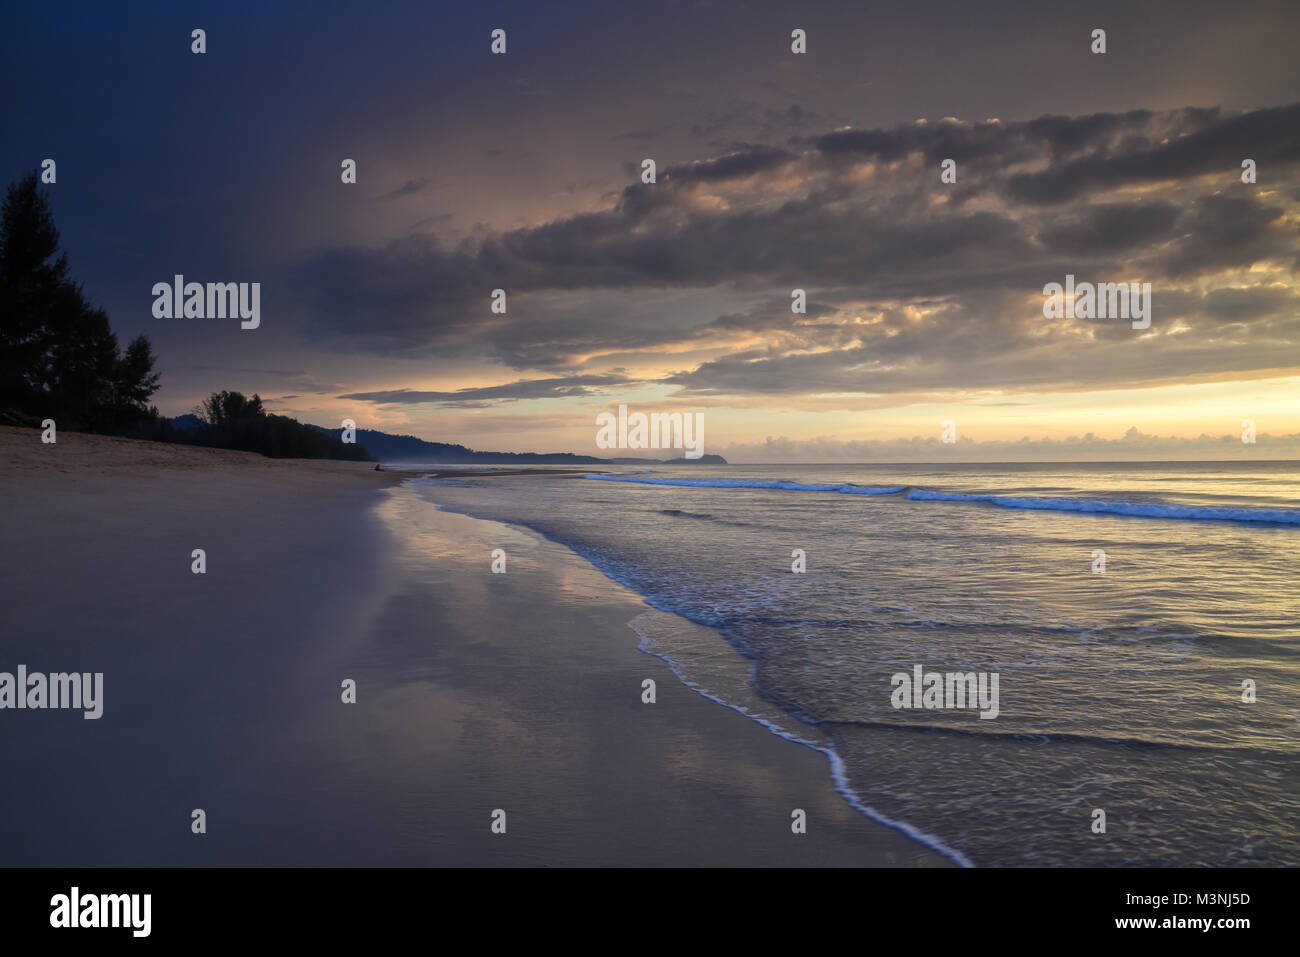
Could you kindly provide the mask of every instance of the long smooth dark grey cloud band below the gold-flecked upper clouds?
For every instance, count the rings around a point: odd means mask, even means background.
[[[699,178],[727,176],[714,170]],[[924,216],[889,200],[837,209],[835,191],[711,213],[676,202],[686,190],[664,186],[629,191],[614,211],[515,230],[477,248],[445,250],[411,237],[378,250],[335,250],[309,263],[307,276],[318,307],[337,317],[365,312],[403,329],[404,316],[413,317],[419,306],[424,315],[412,325],[438,329],[456,324],[445,307],[464,306],[494,287],[581,290],[742,278],[857,286],[874,276],[924,285],[935,274],[1015,263],[1031,252],[1024,231],[1005,213]]]

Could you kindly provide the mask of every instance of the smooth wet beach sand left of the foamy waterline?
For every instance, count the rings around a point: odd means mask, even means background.
[[[364,463],[39,434],[0,428],[0,671],[104,672],[104,715],[0,711],[0,865],[948,865],[560,545]]]

